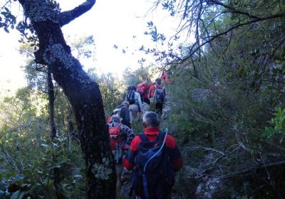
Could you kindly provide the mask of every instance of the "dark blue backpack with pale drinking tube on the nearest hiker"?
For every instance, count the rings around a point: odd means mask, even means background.
[[[139,136],[142,142],[138,145],[132,173],[135,194],[143,199],[167,198],[175,176],[165,147],[167,131],[160,132],[155,141],[147,141],[143,133]]]

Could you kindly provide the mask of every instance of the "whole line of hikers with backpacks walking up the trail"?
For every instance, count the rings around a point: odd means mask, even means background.
[[[149,92],[147,92],[149,91]],[[175,138],[160,131],[160,119],[165,100],[161,80],[138,87],[128,87],[125,101],[108,118],[110,148],[115,156],[117,190],[121,183],[131,183],[128,196],[135,198],[170,198],[175,183],[175,171],[182,166],[182,155]],[[155,111],[145,107],[155,103]],[[135,136],[131,124],[142,115],[142,133]],[[123,163],[123,164],[122,164]],[[129,175],[130,174],[130,175]],[[130,178],[128,178],[130,176]]]

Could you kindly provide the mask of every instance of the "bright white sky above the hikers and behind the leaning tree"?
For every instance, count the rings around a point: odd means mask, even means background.
[[[58,2],[61,9],[66,11],[73,9],[84,0],[58,0]],[[147,14],[152,7],[152,2],[148,0],[97,0],[90,11],[64,26],[63,34],[64,36],[70,35],[71,38],[84,34],[93,35],[96,60],[83,63],[85,67],[96,68],[98,72],[113,72],[120,75],[125,68],[138,68],[140,58],[147,58],[138,50],[141,45],[150,47],[154,45],[150,36],[143,34],[147,31],[147,22],[153,21],[157,25],[157,31],[165,33],[167,38],[175,34],[179,21],[172,18],[167,11],[157,9]],[[19,38],[16,30],[8,34],[0,28],[1,90],[14,90],[24,85],[21,65],[25,58],[21,57],[16,50],[19,47]],[[118,49],[113,48],[114,45],[118,45]],[[126,53],[122,53],[123,48]],[[160,65],[160,63],[155,64]],[[7,82],[9,82],[8,88]]]

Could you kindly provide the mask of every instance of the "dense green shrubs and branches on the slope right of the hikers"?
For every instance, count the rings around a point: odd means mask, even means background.
[[[162,4],[175,15],[176,3]],[[284,198],[284,2],[179,4],[181,28],[196,30],[169,66],[168,122],[187,161],[180,195]]]

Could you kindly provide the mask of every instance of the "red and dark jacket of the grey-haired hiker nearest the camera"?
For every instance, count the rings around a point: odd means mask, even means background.
[[[155,141],[157,139],[158,134],[160,134],[160,129],[158,128],[148,128],[145,129],[145,136],[147,136],[148,141]],[[134,166],[135,156],[138,152],[138,144],[140,144],[142,140],[140,136],[135,136],[132,143],[130,144],[130,149],[128,154],[123,158],[123,166],[128,170],[131,170]],[[168,148],[170,163],[175,171],[178,171],[182,166],[182,155],[177,148],[175,138],[167,135],[165,140],[165,147]]]

